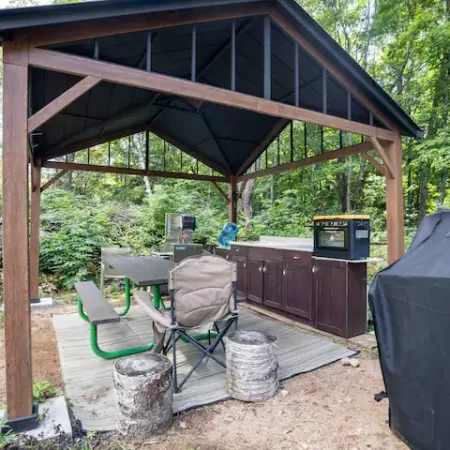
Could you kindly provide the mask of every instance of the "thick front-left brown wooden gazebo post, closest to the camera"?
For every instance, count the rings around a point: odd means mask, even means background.
[[[28,42],[3,43],[3,286],[8,419],[32,413]]]

